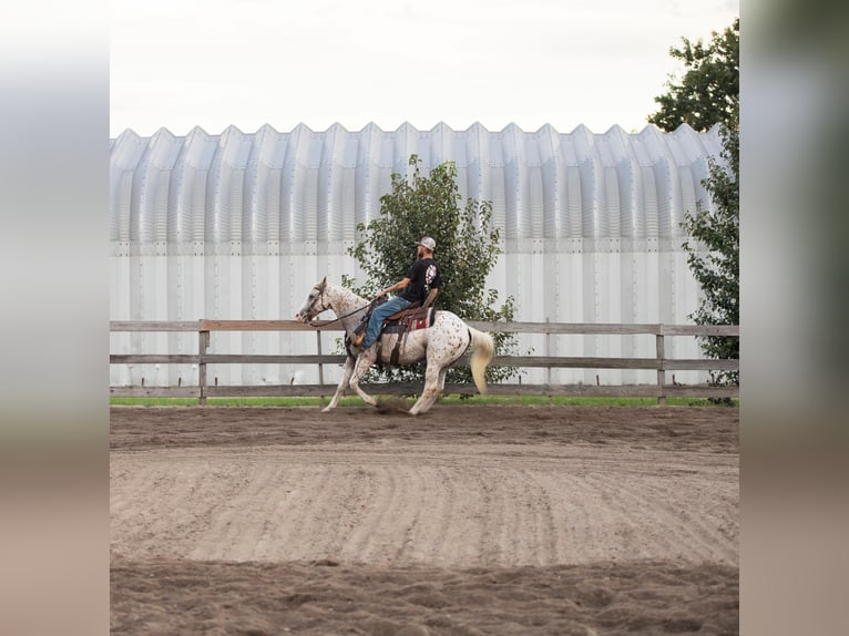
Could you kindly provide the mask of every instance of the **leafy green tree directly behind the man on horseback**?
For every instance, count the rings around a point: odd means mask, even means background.
[[[342,277],[342,285],[365,298],[400,280],[416,258],[416,244],[422,236],[437,242],[434,259],[439,263],[442,287],[437,296],[437,309],[453,311],[463,320],[498,321],[513,319],[512,297],[495,308],[498,291],[487,289],[487,276],[495,266],[501,250],[501,232],[492,227],[492,202],[463,197],[457,185],[457,166],[446,162],[434,166],[428,176],[419,170],[419,158],[411,155],[409,175],[392,174],[390,193],[380,197],[378,216],[359,224],[362,240],[349,248],[368,280],[358,285]],[[514,343],[510,334],[492,334],[497,355],[503,355]],[[375,368],[388,380],[423,378],[422,366],[410,368]],[[516,373],[505,367],[487,369],[489,381],[500,381]],[[467,368],[449,369],[448,382],[471,381]]]

